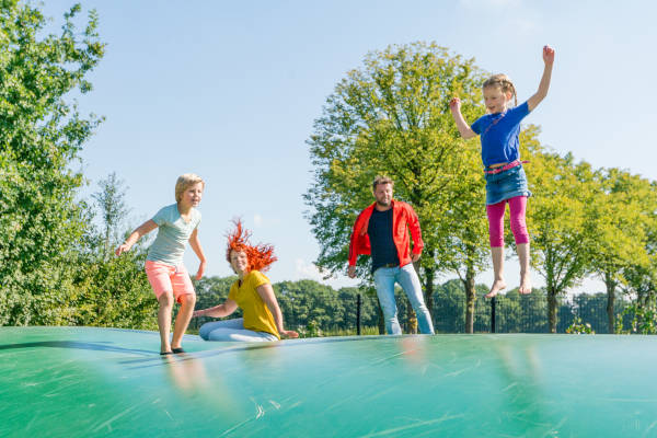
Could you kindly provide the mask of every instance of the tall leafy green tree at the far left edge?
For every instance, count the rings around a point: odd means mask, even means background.
[[[87,93],[103,56],[90,12],[84,30],[64,15],[59,36],[43,36],[42,12],[19,0],[0,3],[0,324],[68,323],[60,306],[72,293],[70,257],[84,230],[71,171],[101,122],[65,100]]]

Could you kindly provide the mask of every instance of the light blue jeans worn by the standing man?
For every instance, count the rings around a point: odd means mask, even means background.
[[[412,263],[402,267],[380,267],[374,270],[374,286],[377,287],[377,296],[381,303],[381,310],[383,310],[383,319],[385,320],[385,331],[388,334],[402,334],[402,327],[400,327],[396,315],[396,302],[394,300],[395,283],[399,283],[402,289],[404,289],[406,297],[408,297],[408,301],[411,301],[411,306],[413,306],[413,310],[415,310],[419,332],[424,334],[434,334],[431,315],[424,302],[419,278],[417,277],[417,273]]]

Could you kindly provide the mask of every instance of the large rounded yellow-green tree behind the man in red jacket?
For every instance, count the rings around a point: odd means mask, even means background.
[[[361,69],[338,82],[308,140],[315,171],[304,199],[320,243],[318,266],[345,270],[351,226],[372,203],[371,182],[389,175],[395,197],[413,206],[423,227],[420,274],[431,308],[436,272],[450,255],[441,249],[458,226],[446,218],[471,165],[448,103],[459,94],[466,116],[482,113],[481,79],[472,59],[414,43],[370,53]],[[361,278],[367,278],[365,258],[358,265]]]

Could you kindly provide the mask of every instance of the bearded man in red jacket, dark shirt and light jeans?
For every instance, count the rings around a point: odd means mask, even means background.
[[[374,178],[372,192],[377,201],[362,210],[354,223],[348,275],[356,277],[356,260],[359,254],[371,254],[377,296],[388,333],[402,334],[394,300],[394,285],[399,283],[417,314],[420,333],[434,334],[431,315],[424,302],[419,278],[413,267],[413,262],[419,260],[424,247],[419,220],[413,207],[392,198],[392,187],[391,178]],[[413,237],[413,255],[410,254],[408,229]]]

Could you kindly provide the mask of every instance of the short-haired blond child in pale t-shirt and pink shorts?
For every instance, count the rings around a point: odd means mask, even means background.
[[[115,252],[116,255],[120,255],[130,251],[130,247],[143,234],[148,234],[159,227],[158,237],[148,250],[145,269],[160,303],[158,327],[160,328],[161,355],[184,353],[181,343],[192,319],[192,312],[194,312],[196,293],[189,274],[183,265],[183,254],[185,244],[189,241],[192,250],[200,260],[196,273],[196,279],[200,279],[206,267],[206,258],[198,240],[200,212],[195,207],[200,203],[204,188],[205,183],[199,176],[192,173],[180,176],[175,183],[176,203],[162,208],[152,219],[139,226]],[[181,310],[177,313],[173,338],[170,343],[169,334],[174,299],[181,303]]]

